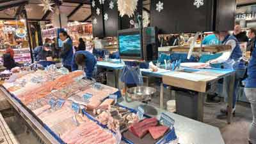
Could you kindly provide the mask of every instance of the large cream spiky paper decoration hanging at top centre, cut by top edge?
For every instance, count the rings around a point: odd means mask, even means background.
[[[120,12],[120,16],[124,17],[124,15],[128,15],[128,17],[132,17],[134,11],[137,9],[138,0],[118,0],[117,6],[118,11]]]

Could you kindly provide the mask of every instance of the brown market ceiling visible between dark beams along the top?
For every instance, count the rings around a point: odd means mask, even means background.
[[[56,3],[58,0],[51,0]],[[21,6],[26,6],[28,19],[35,21],[51,20],[52,11],[43,11],[40,0],[0,0],[0,20],[15,20]],[[256,4],[256,0],[237,0],[239,4]],[[56,7],[58,4],[55,4]],[[150,10],[150,0],[143,0],[143,9]],[[91,20],[90,0],[62,0],[61,13],[65,13],[68,21],[86,22]]]

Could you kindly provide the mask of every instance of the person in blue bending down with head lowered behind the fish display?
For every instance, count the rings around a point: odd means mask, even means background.
[[[71,64],[72,71],[76,71],[78,69],[78,66],[82,66],[88,79],[92,79],[97,75],[97,60],[91,52],[76,52],[72,58]]]

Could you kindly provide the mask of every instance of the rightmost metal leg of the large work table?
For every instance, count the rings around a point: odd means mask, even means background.
[[[234,92],[234,83],[235,83],[235,73],[230,75],[230,85],[229,85],[229,92],[228,92],[228,117],[227,122],[231,124],[232,121],[232,108],[233,108],[233,92]]]

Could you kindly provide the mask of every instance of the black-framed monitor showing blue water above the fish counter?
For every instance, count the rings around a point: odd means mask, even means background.
[[[143,59],[140,29],[118,31],[118,46],[122,59]]]

